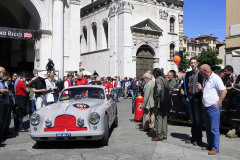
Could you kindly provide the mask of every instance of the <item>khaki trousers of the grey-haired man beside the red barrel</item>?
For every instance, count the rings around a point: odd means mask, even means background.
[[[155,108],[143,109],[143,129],[154,128]]]

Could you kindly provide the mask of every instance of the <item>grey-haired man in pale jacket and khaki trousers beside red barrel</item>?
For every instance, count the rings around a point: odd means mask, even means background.
[[[144,87],[144,99],[143,99],[143,129],[140,131],[148,131],[149,128],[154,130],[154,122],[155,122],[155,115],[154,115],[154,99],[153,99],[153,92],[154,92],[154,82],[150,80],[151,75],[149,73],[145,73],[143,75],[143,79],[146,82]]]

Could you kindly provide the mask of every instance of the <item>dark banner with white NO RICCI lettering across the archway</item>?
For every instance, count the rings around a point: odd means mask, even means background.
[[[34,31],[19,28],[0,27],[0,38],[34,40]]]

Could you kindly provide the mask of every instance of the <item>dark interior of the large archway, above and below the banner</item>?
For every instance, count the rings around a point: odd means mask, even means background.
[[[24,5],[23,5],[24,4]],[[33,15],[37,10],[31,1],[0,1],[0,27],[25,30],[40,29],[40,16],[32,17],[26,7],[31,7]],[[0,65],[12,72],[32,72],[35,60],[35,41],[14,38],[0,38]]]

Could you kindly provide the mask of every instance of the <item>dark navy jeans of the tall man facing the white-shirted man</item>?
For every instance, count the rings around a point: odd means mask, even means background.
[[[192,121],[192,139],[202,141],[202,101],[193,96],[187,97],[188,110]]]

